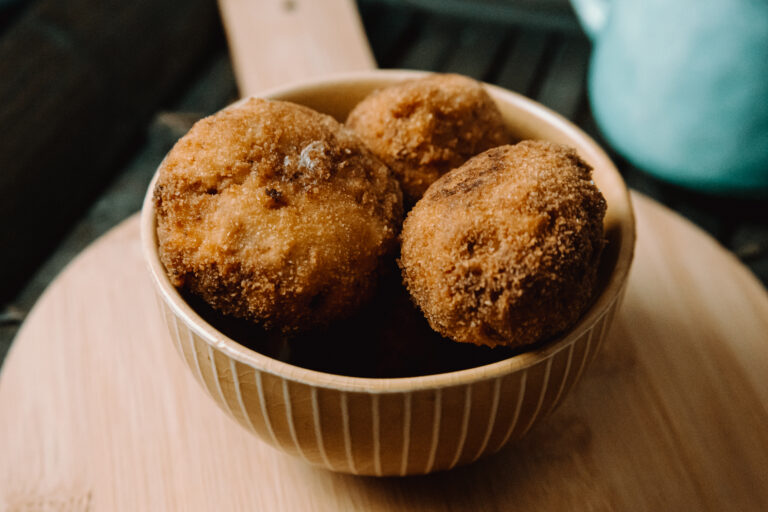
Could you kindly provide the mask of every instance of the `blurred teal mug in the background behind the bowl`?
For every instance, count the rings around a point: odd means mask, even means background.
[[[608,141],[678,185],[768,196],[768,0],[572,0]]]

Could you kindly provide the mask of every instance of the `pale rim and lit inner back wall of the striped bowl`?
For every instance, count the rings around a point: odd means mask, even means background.
[[[414,71],[348,73],[273,89],[263,96],[306,105],[343,122],[348,112],[374,89],[423,74]],[[142,239],[150,272],[162,299],[197,334],[237,361],[311,385],[350,391],[405,391],[482,380],[529,367],[568,347],[613,303],[626,280],[635,236],[629,194],[605,152],[569,121],[519,94],[490,85],[487,88],[517,138],[544,139],[573,146],[593,166],[593,179],[606,197],[608,208],[604,226],[609,244],[600,263],[596,298],[577,324],[562,336],[499,362],[450,373],[405,378],[347,377],[309,370],[265,356],[227,337],[206,322],[171,285],[157,254],[153,180],[142,209]]]

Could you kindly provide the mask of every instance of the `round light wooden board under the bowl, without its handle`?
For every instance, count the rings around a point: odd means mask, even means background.
[[[768,295],[634,201],[624,307],[563,406],[489,459],[388,479],[307,466],[217,409],[166,335],[133,217],[56,279],[11,349],[0,510],[766,510]]]

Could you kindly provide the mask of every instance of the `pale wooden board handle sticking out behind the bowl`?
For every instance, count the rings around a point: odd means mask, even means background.
[[[376,67],[354,0],[219,0],[219,9],[243,96]]]

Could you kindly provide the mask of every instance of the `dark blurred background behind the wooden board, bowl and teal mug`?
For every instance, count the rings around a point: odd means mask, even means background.
[[[607,147],[585,94],[590,43],[565,0],[358,5],[379,67],[463,73],[521,92]],[[139,210],[195,120],[237,96],[214,1],[0,0],[0,361],[45,286]],[[768,201],[686,191],[612,156],[630,187],[768,283]]]

